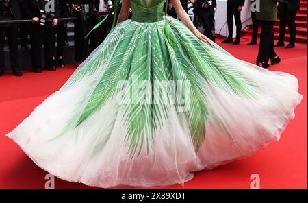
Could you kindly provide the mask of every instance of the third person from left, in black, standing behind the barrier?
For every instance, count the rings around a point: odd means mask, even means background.
[[[59,14],[60,14],[60,18],[70,17],[70,10],[68,8],[68,0],[59,1]],[[58,67],[65,67],[65,64],[63,61],[63,55],[64,55],[66,36],[67,36],[66,23],[67,23],[66,21],[60,21],[56,29],[56,32],[57,32],[57,66]]]

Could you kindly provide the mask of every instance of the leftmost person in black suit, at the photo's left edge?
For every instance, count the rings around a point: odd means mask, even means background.
[[[0,21],[21,20],[21,10],[18,0],[0,0]],[[21,63],[18,54],[18,26],[16,24],[0,24],[0,75],[4,74],[4,41],[8,38],[10,48],[10,62],[13,75],[21,76]]]

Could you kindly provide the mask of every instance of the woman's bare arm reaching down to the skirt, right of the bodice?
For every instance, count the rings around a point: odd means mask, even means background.
[[[173,4],[173,7],[175,8],[175,11],[177,12],[177,16],[179,16],[179,19],[181,19],[181,21],[188,27],[188,29],[190,29],[190,31],[192,31],[192,33],[194,33],[194,35],[198,39],[202,40],[203,42],[209,43],[209,45],[211,45],[211,47],[213,47],[211,40],[209,40],[209,38],[207,38],[206,36],[201,34],[198,31],[198,29],[196,29],[196,27],[194,27],[194,24],[190,20],[190,17],[188,16],[188,14],[183,9],[183,7],[181,5],[181,1],[180,0],[171,0],[171,2]]]

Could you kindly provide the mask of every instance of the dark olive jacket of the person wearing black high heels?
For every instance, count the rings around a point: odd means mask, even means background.
[[[259,21],[276,21],[277,6],[275,0],[261,0],[260,12],[257,12],[257,20]]]

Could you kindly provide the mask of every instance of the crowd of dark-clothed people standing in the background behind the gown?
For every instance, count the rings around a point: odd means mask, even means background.
[[[246,1],[254,3],[256,0]],[[43,67],[49,71],[55,71],[57,67],[65,67],[64,47],[68,44],[66,25],[68,21],[72,21],[69,19],[72,17],[75,17],[75,61],[82,62],[110,32],[112,15],[88,39],[84,38],[90,29],[110,12],[112,3],[111,0],[0,0],[0,75],[4,74],[5,68],[3,51],[5,38],[10,49],[10,65],[13,75],[23,75],[18,53],[18,38],[21,39],[21,47],[27,49],[28,36],[30,36],[31,44],[31,67],[35,73],[41,73]],[[202,25],[205,36],[215,41],[216,0],[181,0],[181,3],[186,11],[188,11],[188,3],[192,3],[195,14],[194,25],[196,27]],[[227,1],[229,36],[222,43],[240,44],[242,32],[240,14],[244,3],[245,0]],[[278,10],[281,19],[280,36],[278,43],[274,45],[272,29],[274,21],[277,19],[277,3],[279,3]],[[271,64],[280,62],[280,58],[274,52],[274,46],[284,46],[286,24],[290,30],[290,42],[286,48],[294,47],[295,15],[299,6],[300,0],[264,0],[261,1],[261,12],[252,10],[253,36],[248,45],[257,44],[258,27],[262,27],[258,65],[261,64],[262,67],[267,68],[269,67],[268,60],[271,60]],[[168,7],[168,14],[177,18],[172,2],[169,2]],[[236,26],[234,41],[233,17]],[[67,18],[68,20],[66,20]],[[19,20],[30,20],[31,23],[13,22],[19,22]],[[42,57],[42,47],[44,47],[44,57]]]

